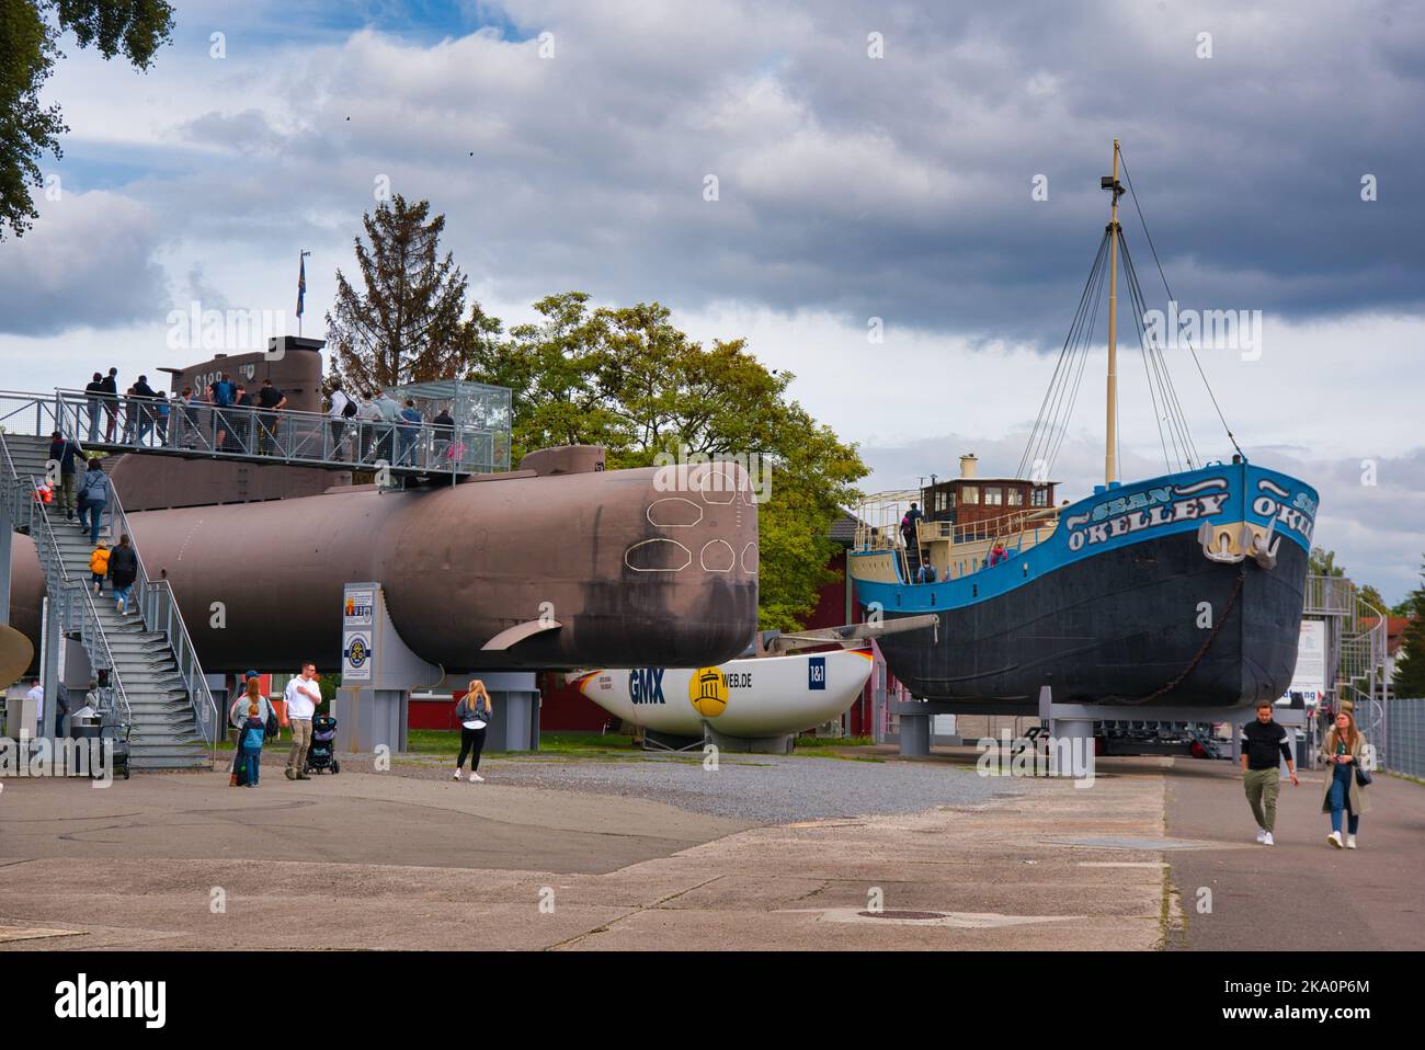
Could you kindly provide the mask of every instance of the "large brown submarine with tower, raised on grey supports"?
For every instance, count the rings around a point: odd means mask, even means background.
[[[322,412],[323,345],[164,370],[175,393],[225,372]],[[735,463],[608,470],[601,447],[561,446],[395,490],[353,483],[351,466],[168,452],[105,469],[209,672],[338,667],[343,586],[366,580],[402,641],[447,671],[715,665],[757,630],[757,503]],[[28,537],[14,556],[11,623],[37,644]]]

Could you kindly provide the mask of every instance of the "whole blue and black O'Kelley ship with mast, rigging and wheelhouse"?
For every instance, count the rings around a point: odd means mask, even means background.
[[[888,634],[879,641],[891,671],[918,698],[1035,712],[1047,685],[1056,702],[1208,709],[1275,701],[1291,684],[1317,492],[1247,462],[1240,447],[1230,462],[1197,460],[1170,379],[1161,380],[1154,400],[1164,406],[1173,436],[1173,452],[1164,436],[1166,457],[1176,453],[1183,469],[1131,483],[1117,479],[1120,252],[1133,306],[1143,316],[1120,241],[1119,160],[1114,142],[1114,172],[1100,182],[1113,191],[1113,217],[1050,383],[1050,395],[1059,382],[1077,389],[1070,379],[1074,355],[1087,353],[1089,306],[1106,271],[1104,483],[1076,503],[1056,506],[1054,483],[1043,480],[1042,470],[980,479],[975,457],[965,456],[958,479],[932,479],[931,486],[881,499],[881,520],[874,510],[862,511],[848,573],[868,618],[938,618],[933,634]],[[1161,349],[1151,341],[1143,349],[1150,378],[1167,376]],[[1082,375],[1082,359],[1077,366]],[[1046,406],[1052,402],[1046,396]],[[1062,419],[1067,426],[1067,416]],[[1054,419],[1046,422],[1042,413],[1040,425],[1026,462],[1036,442],[1054,447]],[[1042,467],[1045,460],[1035,462]],[[912,499],[919,506],[902,517]]]

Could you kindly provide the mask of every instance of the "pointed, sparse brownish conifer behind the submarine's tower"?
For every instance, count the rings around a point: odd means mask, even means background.
[[[363,218],[369,246],[355,239],[362,292],[336,271],[336,303],[326,313],[331,382],[383,390],[459,376],[480,339],[500,322],[476,305],[465,321],[466,276],[439,255],[445,215],[396,194]]]

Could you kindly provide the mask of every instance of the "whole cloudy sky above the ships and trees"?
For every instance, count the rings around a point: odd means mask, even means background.
[[[1321,490],[1318,543],[1357,580],[1395,601],[1418,578],[1412,4],[174,6],[147,76],[70,46],[47,87],[71,131],[43,164],[54,199],[0,244],[7,389],[184,363],[167,319],[194,301],[295,331],[301,249],[321,335],[389,185],[447,215],[507,322],[580,289],[745,336],[861,443],[868,490],[962,452],[1010,472],[1107,221],[1117,137],[1181,308],[1260,311],[1251,346],[1201,350],[1248,456]],[[1167,356],[1200,452],[1228,454],[1186,350]],[[1123,474],[1161,473],[1136,350],[1120,372]],[[1102,375],[1100,348],[1054,464],[1070,497],[1103,470]]]

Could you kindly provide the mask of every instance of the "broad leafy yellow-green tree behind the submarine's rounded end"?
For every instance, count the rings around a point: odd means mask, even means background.
[[[566,292],[534,303],[542,321],[476,350],[469,378],[514,390],[516,454],[549,445],[603,445],[610,467],[650,466],[660,453],[755,456],[758,591],[764,630],[795,630],[819,590],[841,507],[866,467],[854,446],[787,396],[794,376],[774,373],[742,341],[703,346],[660,303],[590,309]]]

